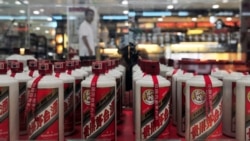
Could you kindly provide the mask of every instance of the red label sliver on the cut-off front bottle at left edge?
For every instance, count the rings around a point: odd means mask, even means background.
[[[0,87],[0,138],[9,140],[9,87]]]

